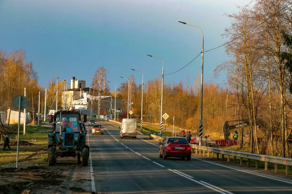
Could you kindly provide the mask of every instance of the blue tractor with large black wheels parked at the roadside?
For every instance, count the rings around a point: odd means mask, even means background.
[[[77,111],[58,111],[49,115],[52,131],[48,134],[48,164],[53,166],[58,157],[76,157],[77,163],[88,166],[89,147],[86,145],[86,114]],[[82,158],[82,161],[81,161]]]

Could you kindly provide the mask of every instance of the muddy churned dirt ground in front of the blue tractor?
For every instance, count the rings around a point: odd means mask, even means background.
[[[0,193],[93,193],[90,167],[77,158],[58,158],[57,165],[1,168]]]

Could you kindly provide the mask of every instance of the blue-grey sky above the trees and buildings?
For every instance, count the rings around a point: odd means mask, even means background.
[[[53,76],[70,80],[73,76],[91,84],[95,70],[105,66],[107,80],[117,87],[122,77],[134,75],[137,84],[172,73],[188,64],[201,52],[197,25],[204,33],[204,50],[224,43],[221,34],[231,21],[224,13],[237,12],[237,5],[249,0],[0,0],[0,49],[23,49],[46,87]],[[204,53],[204,82],[213,70],[227,60],[225,48]],[[165,75],[165,83],[180,80],[193,83],[201,71],[201,56],[183,70]],[[221,84],[225,77],[213,82]],[[114,90],[114,85],[110,85]]]

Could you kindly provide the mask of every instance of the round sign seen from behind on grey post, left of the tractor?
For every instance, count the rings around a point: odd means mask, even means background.
[[[18,168],[20,113],[21,113],[21,110],[24,110],[27,107],[27,105],[28,105],[28,100],[25,96],[18,95],[13,99],[13,106],[18,109],[16,168]]]

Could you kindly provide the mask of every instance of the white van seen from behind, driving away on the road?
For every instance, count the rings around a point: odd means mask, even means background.
[[[137,137],[137,120],[136,119],[123,119],[120,129],[120,138],[132,137],[136,139]]]

